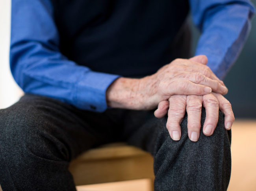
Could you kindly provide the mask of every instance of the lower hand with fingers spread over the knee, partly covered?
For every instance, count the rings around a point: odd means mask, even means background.
[[[203,96],[173,95],[169,101],[162,101],[155,111],[155,116],[161,118],[168,113],[166,127],[173,140],[180,140],[180,123],[187,110],[187,131],[191,141],[197,141],[200,133],[201,109],[206,108],[206,119],[203,126],[204,135],[210,136],[217,125],[219,109],[224,113],[224,124],[227,130],[235,120],[231,104],[218,93],[210,93]]]

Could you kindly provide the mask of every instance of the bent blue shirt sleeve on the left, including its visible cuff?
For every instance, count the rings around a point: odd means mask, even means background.
[[[119,77],[91,71],[60,53],[50,0],[12,0],[10,67],[25,93],[96,112],[106,110],[106,89]]]

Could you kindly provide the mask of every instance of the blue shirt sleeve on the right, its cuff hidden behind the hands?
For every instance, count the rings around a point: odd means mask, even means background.
[[[189,0],[194,24],[202,32],[195,55],[206,55],[219,78],[236,61],[255,12],[249,0]]]

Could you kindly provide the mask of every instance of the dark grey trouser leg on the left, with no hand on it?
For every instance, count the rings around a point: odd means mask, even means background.
[[[25,95],[0,110],[3,191],[75,191],[69,161],[115,140],[116,126],[111,113],[82,111],[50,98]]]

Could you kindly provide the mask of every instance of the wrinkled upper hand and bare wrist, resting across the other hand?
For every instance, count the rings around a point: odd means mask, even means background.
[[[195,56],[190,60],[176,59],[153,75],[141,79],[119,78],[106,92],[108,106],[154,109],[172,95],[206,95],[211,90],[226,94],[227,88],[206,63],[206,56]]]

